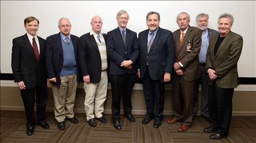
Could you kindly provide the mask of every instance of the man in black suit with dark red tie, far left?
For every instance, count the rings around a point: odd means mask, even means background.
[[[36,35],[39,20],[27,17],[24,27],[27,33],[12,41],[12,72],[14,82],[17,82],[22,95],[27,116],[27,135],[34,133],[36,124],[34,104],[36,101],[37,124],[44,129],[50,126],[46,123],[45,110],[48,100],[47,85],[51,83],[46,76],[45,39]]]

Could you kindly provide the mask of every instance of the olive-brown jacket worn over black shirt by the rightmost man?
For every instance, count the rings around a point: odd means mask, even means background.
[[[206,54],[206,69],[212,68],[216,71],[218,87],[236,88],[239,84],[237,63],[242,52],[243,38],[230,31],[214,56],[214,47],[218,37],[219,35],[214,36],[209,43]],[[209,84],[212,85],[212,81],[209,81]]]

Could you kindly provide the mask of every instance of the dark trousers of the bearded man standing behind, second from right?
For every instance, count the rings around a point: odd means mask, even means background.
[[[199,93],[199,84],[201,83],[201,115],[203,117],[209,117],[208,111],[208,81],[209,75],[206,72],[205,65],[200,65],[201,77],[197,79],[195,94],[193,99],[193,116],[197,115],[198,110],[198,93]]]

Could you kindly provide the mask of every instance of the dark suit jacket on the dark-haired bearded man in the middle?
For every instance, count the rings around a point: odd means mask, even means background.
[[[147,63],[150,77],[154,80],[163,79],[164,73],[172,73],[174,63],[174,38],[172,32],[158,29],[150,51],[147,53],[148,29],[139,33],[139,68],[140,77],[145,75]]]

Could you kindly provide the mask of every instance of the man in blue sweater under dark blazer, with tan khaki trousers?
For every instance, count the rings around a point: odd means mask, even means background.
[[[46,68],[52,83],[54,114],[59,130],[65,130],[65,119],[73,124],[78,123],[73,109],[77,81],[79,82],[77,63],[79,38],[70,34],[71,26],[68,18],[60,18],[58,23],[60,33],[46,39]]]

